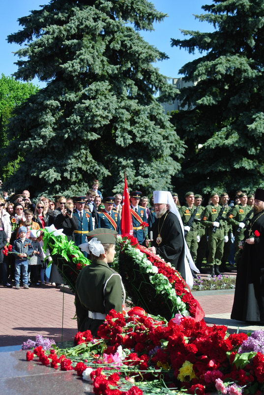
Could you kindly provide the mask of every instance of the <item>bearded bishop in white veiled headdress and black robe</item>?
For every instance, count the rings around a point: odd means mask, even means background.
[[[172,194],[167,191],[153,192],[156,219],[150,231],[153,240],[151,247],[146,240],[150,252],[160,255],[166,262],[170,262],[186,283],[192,287],[193,277],[190,267],[199,272],[195,266],[188,246],[184,239],[183,224],[174,203]]]

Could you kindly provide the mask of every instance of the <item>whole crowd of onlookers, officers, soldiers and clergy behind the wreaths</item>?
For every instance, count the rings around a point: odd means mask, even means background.
[[[28,190],[17,195],[2,192],[0,282],[4,287],[12,287],[13,282],[16,289],[21,285],[26,289],[32,285],[60,286],[62,278],[56,265],[53,265],[50,277],[45,272],[46,255],[42,248],[41,229],[47,226],[54,224],[57,229],[62,229],[67,239],[77,246],[86,244],[96,229],[108,229],[103,240],[121,233],[122,195],[117,193],[115,196],[103,198],[98,188],[99,183],[94,180],[85,196],[66,198],[56,195],[52,199],[41,196],[35,204],[30,200]],[[264,296],[259,283],[264,270],[260,249],[263,243],[262,233],[258,229],[259,226],[262,231],[262,220],[258,215],[260,213],[262,216],[264,213],[264,191],[257,191],[254,196],[238,190],[231,203],[227,192],[212,192],[206,205],[203,204],[203,196],[193,191],[185,193],[183,205],[180,205],[176,192],[154,191],[153,196],[148,199],[141,191],[131,191],[129,199],[133,236],[150,252],[170,261],[184,279],[187,279],[188,271],[195,277],[202,270],[202,263],[210,267],[211,276],[225,271],[227,262],[239,268],[241,261],[249,272],[249,258],[246,259],[245,252],[241,251],[245,250],[252,259],[254,253],[252,249],[248,252],[248,246],[254,245],[255,250],[258,250],[256,259],[261,262],[258,271],[254,273],[254,279],[250,285],[247,284],[248,297],[251,298],[251,315],[248,313],[246,301],[246,313],[236,306],[232,314],[234,317],[252,321],[254,312],[255,321],[264,322]],[[257,228],[253,229],[253,225]],[[100,255],[107,263],[112,255],[109,257],[108,250],[105,251],[107,257]],[[83,253],[87,256],[85,249]],[[238,276],[239,284],[248,281],[249,277]],[[258,296],[254,291],[254,282],[258,283]],[[241,292],[240,287],[239,299]]]

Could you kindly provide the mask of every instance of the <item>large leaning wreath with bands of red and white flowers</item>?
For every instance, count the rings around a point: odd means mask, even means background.
[[[117,237],[116,250],[114,268],[121,275],[133,305],[142,306],[154,316],[162,314],[167,320],[178,313],[184,317],[191,315],[197,321],[204,318],[190,288],[170,263],[147,255],[147,249],[138,246],[132,237]]]

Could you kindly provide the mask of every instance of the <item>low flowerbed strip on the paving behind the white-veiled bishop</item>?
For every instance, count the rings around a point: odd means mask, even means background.
[[[194,279],[193,291],[210,290],[210,289],[235,289],[235,276],[208,276],[202,278],[197,276]]]

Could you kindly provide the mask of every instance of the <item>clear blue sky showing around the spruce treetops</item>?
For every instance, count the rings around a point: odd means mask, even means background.
[[[160,72],[168,77],[177,77],[178,70],[187,62],[200,56],[190,55],[185,50],[171,47],[171,38],[183,38],[180,29],[199,30],[202,32],[212,31],[212,26],[206,22],[199,22],[193,14],[201,14],[204,11],[201,6],[211,1],[206,0],[152,0],[156,9],[168,14],[168,17],[162,23],[154,26],[153,32],[142,32],[142,36],[159,50],[165,52],[170,59],[156,63]],[[29,15],[30,10],[38,9],[39,3],[47,4],[45,0],[10,0],[1,2],[1,18],[0,18],[0,74],[11,75],[17,70],[17,66],[13,63],[17,60],[12,52],[15,52],[19,46],[16,44],[8,44],[6,37],[11,33],[17,32],[21,27],[17,19]],[[34,83],[38,83],[34,79]]]

